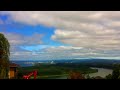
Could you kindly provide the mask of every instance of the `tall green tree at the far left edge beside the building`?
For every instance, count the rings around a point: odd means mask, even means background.
[[[0,33],[0,79],[8,78],[10,44],[3,34]]]

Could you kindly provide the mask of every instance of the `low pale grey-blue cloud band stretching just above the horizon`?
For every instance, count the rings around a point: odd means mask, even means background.
[[[15,49],[16,48],[16,49]],[[37,51],[21,50],[14,47],[11,50],[11,60],[61,60],[76,58],[118,58],[120,51],[89,50],[72,46],[51,46]]]

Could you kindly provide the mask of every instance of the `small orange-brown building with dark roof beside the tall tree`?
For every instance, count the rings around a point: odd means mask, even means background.
[[[15,64],[15,63],[10,63],[9,67],[10,67],[9,73],[8,73],[9,79],[17,78],[17,73],[18,73],[17,68],[19,67],[19,65]]]

